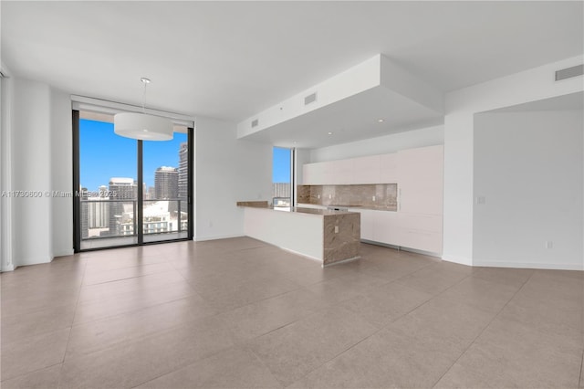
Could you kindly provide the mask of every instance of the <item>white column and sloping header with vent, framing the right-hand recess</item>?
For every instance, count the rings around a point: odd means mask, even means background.
[[[474,114],[581,91],[581,77],[556,82],[554,72],[583,61],[567,58],[446,94],[443,259],[473,264]]]

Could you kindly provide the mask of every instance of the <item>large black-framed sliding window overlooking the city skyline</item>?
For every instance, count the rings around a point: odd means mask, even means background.
[[[73,111],[75,249],[193,237],[193,130],[171,141],[114,133],[111,115]]]

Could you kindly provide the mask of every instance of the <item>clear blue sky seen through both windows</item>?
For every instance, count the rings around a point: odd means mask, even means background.
[[[179,166],[179,148],[187,141],[184,133],[174,133],[172,141],[144,142],[144,182],[154,186],[154,172],[160,166]],[[110,183],[111,177],[136,179],[137,141],[116,135],[113,124],[102,121],[79,121],[80,184],[89,191]],[[290,182],[290,150],[274,148],[272,179]]]

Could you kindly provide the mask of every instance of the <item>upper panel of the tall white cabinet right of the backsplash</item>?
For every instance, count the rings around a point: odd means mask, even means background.
[[[400,212],[442,215],[442,145],[398,152],[397,175]]]

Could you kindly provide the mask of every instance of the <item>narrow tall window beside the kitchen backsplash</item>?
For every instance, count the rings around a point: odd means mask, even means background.
[[[272,201],[276,208],[293,205],[292,159],[294,150],[274,147],[272,153]]]

